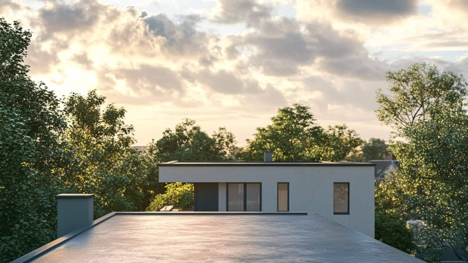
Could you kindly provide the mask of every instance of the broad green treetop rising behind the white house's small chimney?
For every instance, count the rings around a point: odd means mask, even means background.
[[[257,128],[255,138],[247,140],[240,158],[263,161],[264,152],[274,152],[274,161],[341,161],[357,151],[362,140],[355,131],[346,125],[324,130],[309,110],[301,104],[279,109],[270,125]]]

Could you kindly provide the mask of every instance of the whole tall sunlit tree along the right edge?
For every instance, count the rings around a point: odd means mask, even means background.
[[[402,180],[421,189],[410,194],[402,210],[422,219],[416,255],[437,262],[444,244],[459,259],[468,256],[467,83],[435,66],[409,66],[388,72],[392,95],[377,95],[377,117],[392,126],[390,146],[398,158]],[[399,204],[396,204],[399,205]]]

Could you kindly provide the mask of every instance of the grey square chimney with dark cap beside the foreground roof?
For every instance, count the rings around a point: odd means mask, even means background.
[[[93,223],[94,194],[59,194],[57,238]]]

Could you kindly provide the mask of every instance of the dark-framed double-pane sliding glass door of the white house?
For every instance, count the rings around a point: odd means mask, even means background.
[[[261,183],[227,183],[227,211],[262,211]]]

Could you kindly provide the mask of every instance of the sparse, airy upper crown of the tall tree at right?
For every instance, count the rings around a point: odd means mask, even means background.
[[[419,120],[430,118],[441,107],[459,108],[468,95],[466,83],[453,72],[439,73],[436,66],[414,64],[397,72],[388,71],[389,91],[377,92],[377,118],[397,132]],[[397,134],[398,135],[398,134]]]

